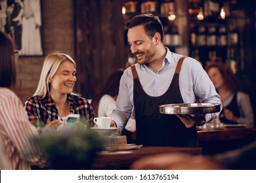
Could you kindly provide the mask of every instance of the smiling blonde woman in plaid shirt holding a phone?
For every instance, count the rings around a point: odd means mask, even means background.
[[[25,103],[32,123],[41,121],[56,129],[69,114],[80,114],[89,118],[93,126],[93,107],[87,99],[73,93],[75,75],[75,61],[67,54],[54,52],[45,58],[37,90]]]

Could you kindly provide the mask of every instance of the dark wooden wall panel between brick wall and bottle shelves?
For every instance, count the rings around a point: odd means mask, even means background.
[[[125,67],[123,1],[76,0],[77,90],[93,99],[106,78]]]

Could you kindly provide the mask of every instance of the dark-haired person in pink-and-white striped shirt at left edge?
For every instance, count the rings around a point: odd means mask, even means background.
[[[31,169],[31,165],[45,167],[47,160],[37,144],[39,134],[30,124],[22,102],[11,86],[16,81],[17,61],[14,45],[9,35],[0,32],[0,141],[1,169]],[[11,164],[11,165],[10,165]]]

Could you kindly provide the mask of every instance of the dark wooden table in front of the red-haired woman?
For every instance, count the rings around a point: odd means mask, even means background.
[[[212,155],[240,148],[256,140],[256,128],[230,127],[198,131],[202,154]]]

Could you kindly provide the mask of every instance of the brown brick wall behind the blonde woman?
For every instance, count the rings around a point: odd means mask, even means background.
[[[74,5],[72,0],[41,0],[44,56],[21,57],[14,92],[24,103],[37,88],[43,60],[58,50],[74,58]]]

